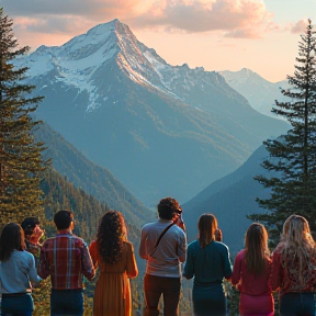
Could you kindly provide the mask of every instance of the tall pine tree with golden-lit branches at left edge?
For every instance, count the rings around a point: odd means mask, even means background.
[[[32,116],[43,98],[31,97],[35,87],[23,83],[27,68],[13,66],[29,47],[18,48],[12,25],[0,8],[0,226],[44,214],[40,174],[46,168],[45,148],[33,138],[41,122]]]

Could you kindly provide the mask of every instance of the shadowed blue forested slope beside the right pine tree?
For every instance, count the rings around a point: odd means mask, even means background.
[[[211,183],[182,205],[190,241],[198,236],[199,217],[203,213],[213,213],[223,230],[223,241],[229,246],[233,257],[242,249],[245,233],[252,223],[246,216],[264,213],[256,198],[267,199],[270,194],[268,189],[253,180],[258,174],[269,177],[269,171],[261,167],[268,156],[264,146],[260,146],[241,167]]]

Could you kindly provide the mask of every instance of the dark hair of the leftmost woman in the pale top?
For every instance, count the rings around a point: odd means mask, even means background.
[[[7,224],[0,236],[0,261],[10,259],[13,250],[25,249],[24,232],[16,223]]]

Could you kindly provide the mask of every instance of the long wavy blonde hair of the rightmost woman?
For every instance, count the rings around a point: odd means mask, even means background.
[[[314,255],[315,241],[311,235],[309,225],[306,218],[300,215],[291,215],[283,225],[281,236],[283,242],[282,259],[284,266],[291,264],[289,259],[295,260],[295,266],[298,269],[298,281],[304,284],[305,270],[313,270],[311,257]],[[286,260],[287,259],[287,260]],[[289,267],[294,268],[294,267]]]

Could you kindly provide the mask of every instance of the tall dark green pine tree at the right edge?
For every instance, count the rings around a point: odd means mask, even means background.
[[[270,155],[262,167],[270,171],[271,178],[255,177],[271,190],[270,199],[257,199],[268,212],[249,216],[268,226],[272,245],[278,242],[283,223],[291,214],[306,217],[316,232],[316,38],[311,20],[301,38],[294,76],[287,76],[292,88],[281,91],[289,101],[275,101],[272,109],[291,127],[286,135],[263,142]]]

